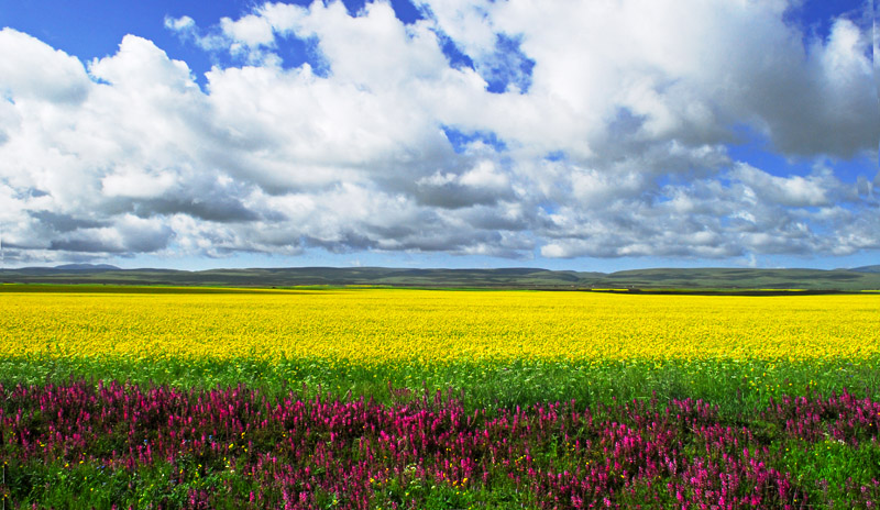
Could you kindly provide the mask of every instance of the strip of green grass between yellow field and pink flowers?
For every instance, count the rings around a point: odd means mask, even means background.
[[[268,395],[290,390],[373,397],[389,402],[395,390],[451,389],[475,408],[513,408],[540,401],[576,400],[584,406],[632,399],[659,401],[695,398],[723,413],[744,406],[766,406],[770,398],[831,393],[844,388],[880,398],[880,359],[779,361],[568,361],[457,362],[426,365],[417,361],[371,366],[327,358],[151,359],[125,357],[0,358],[3,385],[64,382],[70,377],[129,380],[138,385],[213,388],[244,384]],[[399,392],[399,391],[398,391]]]

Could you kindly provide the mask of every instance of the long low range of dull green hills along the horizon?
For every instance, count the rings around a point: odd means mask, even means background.
[[[871,266],[877,267],[877,266]],[[880,289],[880,273],[867,270],[691,268],[617,273],[503,269],[408,269],[389,267],[287,267],[253,269],[120,269],[106,265],[67,265],[0,270],[0,281],[20,284],[170,285],[217,287],[386,286],[591,290],[628,289],[744,292],[803,289],[859,291]]]

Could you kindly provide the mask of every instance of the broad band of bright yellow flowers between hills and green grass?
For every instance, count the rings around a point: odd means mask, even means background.
[[[2,357],[864,359],[880,352],[880,299],[375,289],[4,292],[0,332]]]

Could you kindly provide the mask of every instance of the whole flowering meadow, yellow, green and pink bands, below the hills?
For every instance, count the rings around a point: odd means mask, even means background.
[[[877,295],[18,289],[10,508],[880,503]]]

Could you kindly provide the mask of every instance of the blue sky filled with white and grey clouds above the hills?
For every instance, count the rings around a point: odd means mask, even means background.
[[[875,9],[0,0],[0,264],[880,264]]]

